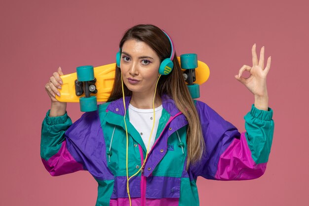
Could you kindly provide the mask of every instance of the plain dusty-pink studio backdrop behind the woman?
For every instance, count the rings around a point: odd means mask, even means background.
[[[239,131],[254,96],[234,75],[252,65],[254,43],[272,57],[275,130],[266,173],[250,181],[198,178],[200,205],[308,206],[308,7],[306,0],[1,0],[0,205],[95,205],[88,172],[52,177],[40,161],[50,107],[44,85],[59,66],[68,74],[115,62],[124,31],[151,23],[170,34],[178,55],[194,52],[208,64],[200,100]],[[76,121],[78,104],[68,113]]]

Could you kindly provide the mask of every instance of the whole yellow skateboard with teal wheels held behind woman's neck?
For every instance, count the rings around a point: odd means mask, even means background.
[[[184,79],[192,97],[198,98],[199,85],[209,78],[209,67],[198,61],[196,54],[183,54],[177,59],[184,71]],[[79,102],[82,112],[95,111],[97,101],[105,102],[111,94],[115,70],[116,63],[94,68],[77,67],[77,72],[61,76],[63,84],[62,88],[58,89],[60,96],[56,95],[56,99],[60,102]]]

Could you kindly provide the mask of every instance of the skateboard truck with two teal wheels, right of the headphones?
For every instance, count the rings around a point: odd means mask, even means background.
[[[188,89],[193,99],[199,97],[199,85],[195,84],[195,68],[197,68],[196,54],[182,54],[180,55],[180,67],[185,69],[183,76],[188,83]]]

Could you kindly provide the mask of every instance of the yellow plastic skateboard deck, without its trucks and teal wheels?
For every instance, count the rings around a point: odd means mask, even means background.
[[[180,62],[180,57],[177,57]],[[209,78],[209,67],[201,61],[197,61],[197,68],[195,68],[195,84],[202,84]],[[107,64],[99,67],[94,67],[94,77],[96,79],[97,93],[91,93],[91,96],[96,96],[98,102],[106,102],[111,95],[114,85],[116,63]],[[182,69],[185,71],[185,69]],[[75,80],[77,80],[77,73],[62,75],[60,77],[63,84],[61,89],[58,89],[60,96],[56,95],[56,99],[60,102],[79,102],[80,97],[85,97],[85,93],[80,96],[76,95]]]

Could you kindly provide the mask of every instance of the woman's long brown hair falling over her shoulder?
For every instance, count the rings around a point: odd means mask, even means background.
[[[119,43],[120,52],[123,43],[132,39],[147,43],[152,49],[154,49],[161,61],[170,57],[170,41],[163,31],[154,25],[141,24],[128,29]],[[190,164],[194,164],[201,159],[204,152],[205,143],[202,136],[198,114],[186,82],[184,81],[183,73],[176,56],[177,55],[175,52],[175,58],[173,59],[174,68],[172,72],[169,75],[162,75],[160,77],[157,86],[157,93],[160,96],[163,94],[170,96],[174,100],[176,107],[186,116],[187,121],[189,122],[187,129],[188,157],[186,166],[188,169]],[[132,92],[125,86],[125,84],[123,87],[124,95],[131,96]],[[116,67],[114,87],[108,102],[114,101],[121,97],[121,72],[120,69]]]

